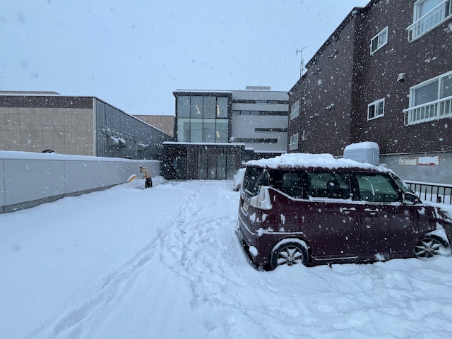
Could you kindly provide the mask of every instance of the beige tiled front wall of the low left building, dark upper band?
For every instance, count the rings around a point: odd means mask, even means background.
[[[0,95],[0,149],[95,155],[93,97]]]

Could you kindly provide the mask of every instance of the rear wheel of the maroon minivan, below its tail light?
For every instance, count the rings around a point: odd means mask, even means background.
[[[270,268],[274,270],[281,265],[297,265],[304,266],[309,262],[309,254],[307,244],[305,242],[284,242],[276,244],[270,254]]]

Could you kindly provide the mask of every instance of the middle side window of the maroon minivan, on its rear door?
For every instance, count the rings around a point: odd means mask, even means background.
[[[347,173],[308,173],[309,196],[313,198],[350,199],[350,175]]]

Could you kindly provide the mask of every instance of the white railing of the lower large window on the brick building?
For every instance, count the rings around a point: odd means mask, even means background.
[[[403,109],[405,126],[419,124],[424,121],[452,117],[452,95],[443,99],[427,102]]]

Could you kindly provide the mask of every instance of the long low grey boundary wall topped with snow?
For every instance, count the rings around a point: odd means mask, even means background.
[[[0,213],[124,184],[142,164],[160,175],[157,160],[0,151]]]

